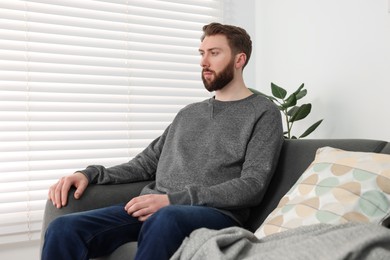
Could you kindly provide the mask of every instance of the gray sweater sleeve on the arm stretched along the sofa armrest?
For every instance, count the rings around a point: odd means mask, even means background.
[[[157,163],[164,147],[169,127],[149,144],[141,153],[127,163],[106,168],[102,165],[90,165],[83,173],[94,184],[119,184],[155,178]]]

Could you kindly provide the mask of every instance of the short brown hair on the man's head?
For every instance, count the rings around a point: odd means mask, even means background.
[[[241,52],[245,53],[245,67],[246,64],[248,64],[249,58],[251,57],[252,53],[252,41],[249,34],[244,29],[237,26],[220,23],[210,23],[203,26],[203,35],[201,37],[201,41],[203,41],[206,36],[212,36],[217,34],[222,34],[226,36],[229,46],[232,49],[234,55]]]

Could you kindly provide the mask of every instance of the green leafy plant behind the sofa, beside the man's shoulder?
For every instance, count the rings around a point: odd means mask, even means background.
[[[321,123],[322,120],[317,121],[311,125],[305,132],[303,132],[299,137],[292,135],[292,127],[296,121],[302,120],[310,114],[312,105],[310,103],[297,105],[298,100],[306,96],[307,90],[304,89],[304,84],[294,91],[294,93],[287,95],[287,91],[279,87],[278,85],[271,83],[272,96],[261,93],[256,89],[250,88],[250,90],[258,95],[262,95],[272,102],[274,102],[280,111],[283,113],[286,120],[287,131],[284,132],[284,137],[287,139],[299,139],[304,138],[311,134]]]

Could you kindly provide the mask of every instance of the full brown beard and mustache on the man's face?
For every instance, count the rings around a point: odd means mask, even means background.
[[[211,72],[214,75],[214,80],[208,81],[203,75],[203,72]],[[234,59],[232,59],[229,64],[226,65],[226,67],[217,74],[215,71],[210,69],[203,69],[202,70],[202,81],[205,86],[205,88],[209,92],[213,92],[216,90],[223,89],[227,84],[230,83],[234,78]]]

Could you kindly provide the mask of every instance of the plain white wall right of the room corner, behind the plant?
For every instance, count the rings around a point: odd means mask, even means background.
[[[289,92],[305,83],[312,138],[390,141],[388,0],[256,1],[256,83]],[[299,124],[299,125],[298,125]],[[299,133],[297,133],[299,134]]]

